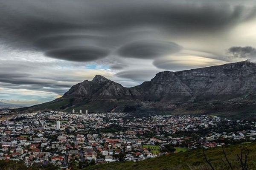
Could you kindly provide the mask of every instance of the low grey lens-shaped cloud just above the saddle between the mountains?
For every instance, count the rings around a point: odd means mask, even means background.
[[[132,79],[134,81],[143,82],[152,79],[159,70],[129,70],[116,73],[116,77]]]

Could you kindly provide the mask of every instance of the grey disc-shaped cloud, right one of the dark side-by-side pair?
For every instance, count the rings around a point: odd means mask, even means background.
[[[180,45],[174,42],[164,41],[140,41],[131,42],[122,46],[118,54],[122,57],[154,59],[168,54],[174,54],[181,50]]]

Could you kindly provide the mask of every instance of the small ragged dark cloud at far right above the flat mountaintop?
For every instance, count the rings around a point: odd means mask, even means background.
[[[227,50],[227,54],[229,57],[235,57],[235,58],[255,58],[256,57],[256,49],[250,46],[246,47],[231,47]]]

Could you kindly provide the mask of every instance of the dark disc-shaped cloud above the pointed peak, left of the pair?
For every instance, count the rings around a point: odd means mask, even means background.
[[[96,47],[58,48],[46,52],[48,57],[76,62],[87,62],[102,59],[108,54],[108,50]]]

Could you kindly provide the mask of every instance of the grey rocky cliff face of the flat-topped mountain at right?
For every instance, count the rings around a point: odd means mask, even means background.
[[[193,100],[227,98],[254,93],[255,80],[256,65],[246,61],[188,71],[164,71],[133,89],[144,94],[144,100],[148,96],[164,101],[176,101],[177,98],[183,101],[189,97]]]

